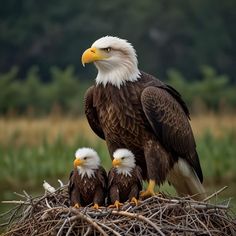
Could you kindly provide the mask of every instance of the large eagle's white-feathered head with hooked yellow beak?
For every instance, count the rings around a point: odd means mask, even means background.
[[[125,39],[105,36],[95,41],[82,55],[82,64],[94,62],[97,84],[111,83],[120,88],[127,81],[140,78],[135,49]]]

